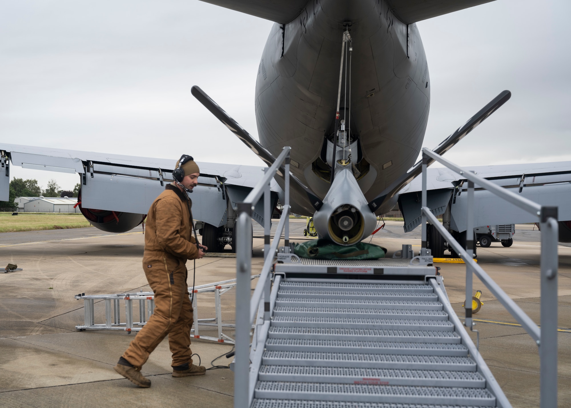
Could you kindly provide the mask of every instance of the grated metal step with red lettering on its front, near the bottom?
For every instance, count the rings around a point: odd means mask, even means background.
[[[352,367],[262,366],[260,381],[484,388],[475,371],[364,369]]]

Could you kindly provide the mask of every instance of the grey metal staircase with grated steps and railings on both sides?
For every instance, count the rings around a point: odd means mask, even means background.
[[[300,259],[289,247],[289,150],[284,147],[238,204],[235,408],[511,407],[468,335],[468,330],[477,332],[471,303],[466,302],[460,322],[432,265],[427,221],[466,263],[466,299],[472,297],[475,274],[536,341],[541,407],[557,407],[556,207],[537,205],[423,149],[418,256],[403,258],[412,253],[403,247],[397,259]],[[468,180],[468,231],[473,229],[475,185],[541,222],[541,329],[473,261],[473,241],[461,246],[428,209],[429,157]],[[279,172],[285,180],[284,207],[270,241],[270,181]],[[252,294],[251,213],[262,195],[264,265]],[[284,246],[278,252],[282,234]]]

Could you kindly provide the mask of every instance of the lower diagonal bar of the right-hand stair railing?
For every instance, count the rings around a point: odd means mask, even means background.
[[[468,255],[467,251],[460,245],[460,243],[458,243],[458,241],[456,241],[456,239],[454,239],[452,235],[444,228],[444,226],[438,221],[434,214],[432,214],[431,210],[428,207],[423,207],[422,210],[427,216],[428,222],[439,230],[440,234],[442,234],[444,239],[450,245],[452,245],[456,253],[459,254],[462,259],[464,259],[466,265],[470,265],[472,267],[472,271],[478,278],[480,278],[480,281],[482,281],[482,283],[486,285],[486,287],[490,290],[490,292],[492,292],[498,301],[500,301],[500,303],[504,305],[506,309],[508,309],[509,313],[511,313],[512,316],[515,317],[518,322],[520,322],[521,326],[524,327],[529,335],[535,341],[539,341],[541,338],[540,330],[533,322],[533,320],[525,314],[520,306],[517,306],[516,302],[514,302],[512,298],[510,298],[508,294],[506,294],[504,290],[501,289],[501,287],[498,286],[498,284],[494,282],[487,273],[485,273],[480,265],[474,262],[474,259]]]

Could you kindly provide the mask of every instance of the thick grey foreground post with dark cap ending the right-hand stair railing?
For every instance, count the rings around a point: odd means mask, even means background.
[[[557,207],[541,207],[541,408],[557,407]]]

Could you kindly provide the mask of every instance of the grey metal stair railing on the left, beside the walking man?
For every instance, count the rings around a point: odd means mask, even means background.
[[[291,147],[283,148],[276,161],[266,169],[266,174],[250,191],[243,202],[238,203],[236,218],[236,351],[234,358],[234,407],[247,408],[253,397],[254,387],[250,385],[250,330],[258,315],[262,297],[264,300],[264,322],[269,324],[270,312],[270,271],[274,255],[284,233],[284,252],[289,253],[289,152]],[[270,182],[280,173],[284,163],[284,209],[270,245],[271,208]],[[264,195],[264,265],[254,294],[250,297],[250,275],[252,266],[252,211],[254,205]],[[265,324],[265,323],[264,323]],[[255,346],[252,346],[255,348]]]

